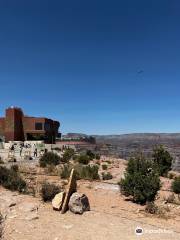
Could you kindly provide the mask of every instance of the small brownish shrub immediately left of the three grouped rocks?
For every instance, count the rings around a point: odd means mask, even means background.
[[[44,182],[42,184],[41,196],[44,202],[51,201],[55,197],[55,195],[60,192],[61,188],[54,184],[50,184],[47,182]]]

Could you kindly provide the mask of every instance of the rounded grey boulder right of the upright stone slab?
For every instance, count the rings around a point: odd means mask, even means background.
[[[89,200],[85,194],[73,193],[69,201],[69,210],[75,214],[83,214],[90,210]]]

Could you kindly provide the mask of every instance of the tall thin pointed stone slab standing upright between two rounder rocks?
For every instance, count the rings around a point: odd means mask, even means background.
[[[69,178],[67,190],[66,190],[66,196],[63,202],[62,210],[61,213],[64,214],[68,210],[68,203],[71,195],[76,192],[76,176],[75,176],[75,171],[74,169],[71,170],[71,175]]]

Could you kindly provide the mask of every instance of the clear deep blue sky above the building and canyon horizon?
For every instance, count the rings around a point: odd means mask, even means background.
[[[62,132],[180,132],[179,0],[1,0],[0,115]]]

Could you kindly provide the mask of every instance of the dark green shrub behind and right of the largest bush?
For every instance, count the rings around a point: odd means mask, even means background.
[[[153,161],[157,164],[159,174],[166,176],[168,171],[171,170],[172,156],[163,148],[163,146],[157,146],[153,150]]]

